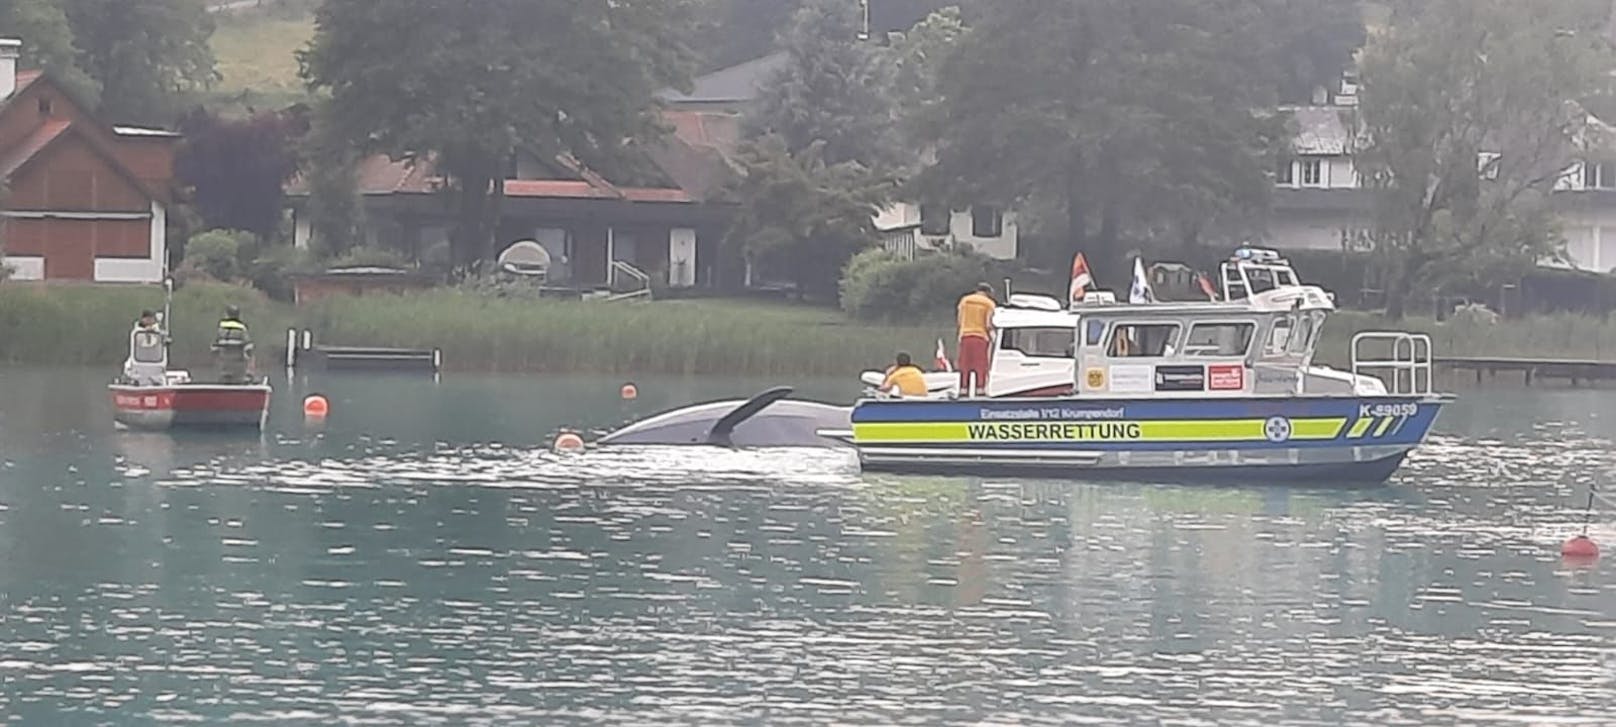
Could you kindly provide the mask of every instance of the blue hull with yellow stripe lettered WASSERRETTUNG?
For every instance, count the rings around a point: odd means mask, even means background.
[[[863,401],[850,439],[874,472],[1378,483],[1448,401]]]

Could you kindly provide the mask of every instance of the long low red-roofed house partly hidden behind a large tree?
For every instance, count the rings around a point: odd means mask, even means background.
[[[612,183],[569,155],[519,153],[504,179],[496,249],[538,242],[549,258],[546,283],[558,288],[633,286],[640,276],[667,288],[716,284],[729,275],[719,250],[734,205],[721,199],[726,160],[701,132],[684,124],[648,149],[650,184]],[[367,244],[415,258],[446,249],[454,207],[431,158],[367,157],[357,181]],[[292,179],[286,200],[292,241],[307,247],[315,234],[307,181]]]

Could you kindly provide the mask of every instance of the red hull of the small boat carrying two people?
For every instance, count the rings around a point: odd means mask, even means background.
[[[268,385],[108,386],[113,420],[134,430],[262,428]]]

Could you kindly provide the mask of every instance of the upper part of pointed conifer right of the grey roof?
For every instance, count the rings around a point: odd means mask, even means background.
[[[881,48],[858,40],[860,23],[855,3],[805,0],[781,37],[789,60],[748,120],[753,136],[779,136],[792,153],[819,144],[827,165],[890,170],[903,160],[890,63]]]

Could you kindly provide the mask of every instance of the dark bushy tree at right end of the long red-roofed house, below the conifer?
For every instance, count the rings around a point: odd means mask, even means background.
[[[792,153],[772,134],[745,144],[727,241],[764,273],[831,297],[847,258],[874,242],[873,215],[892,186],[858,162],[827,163],[823,149]]]

